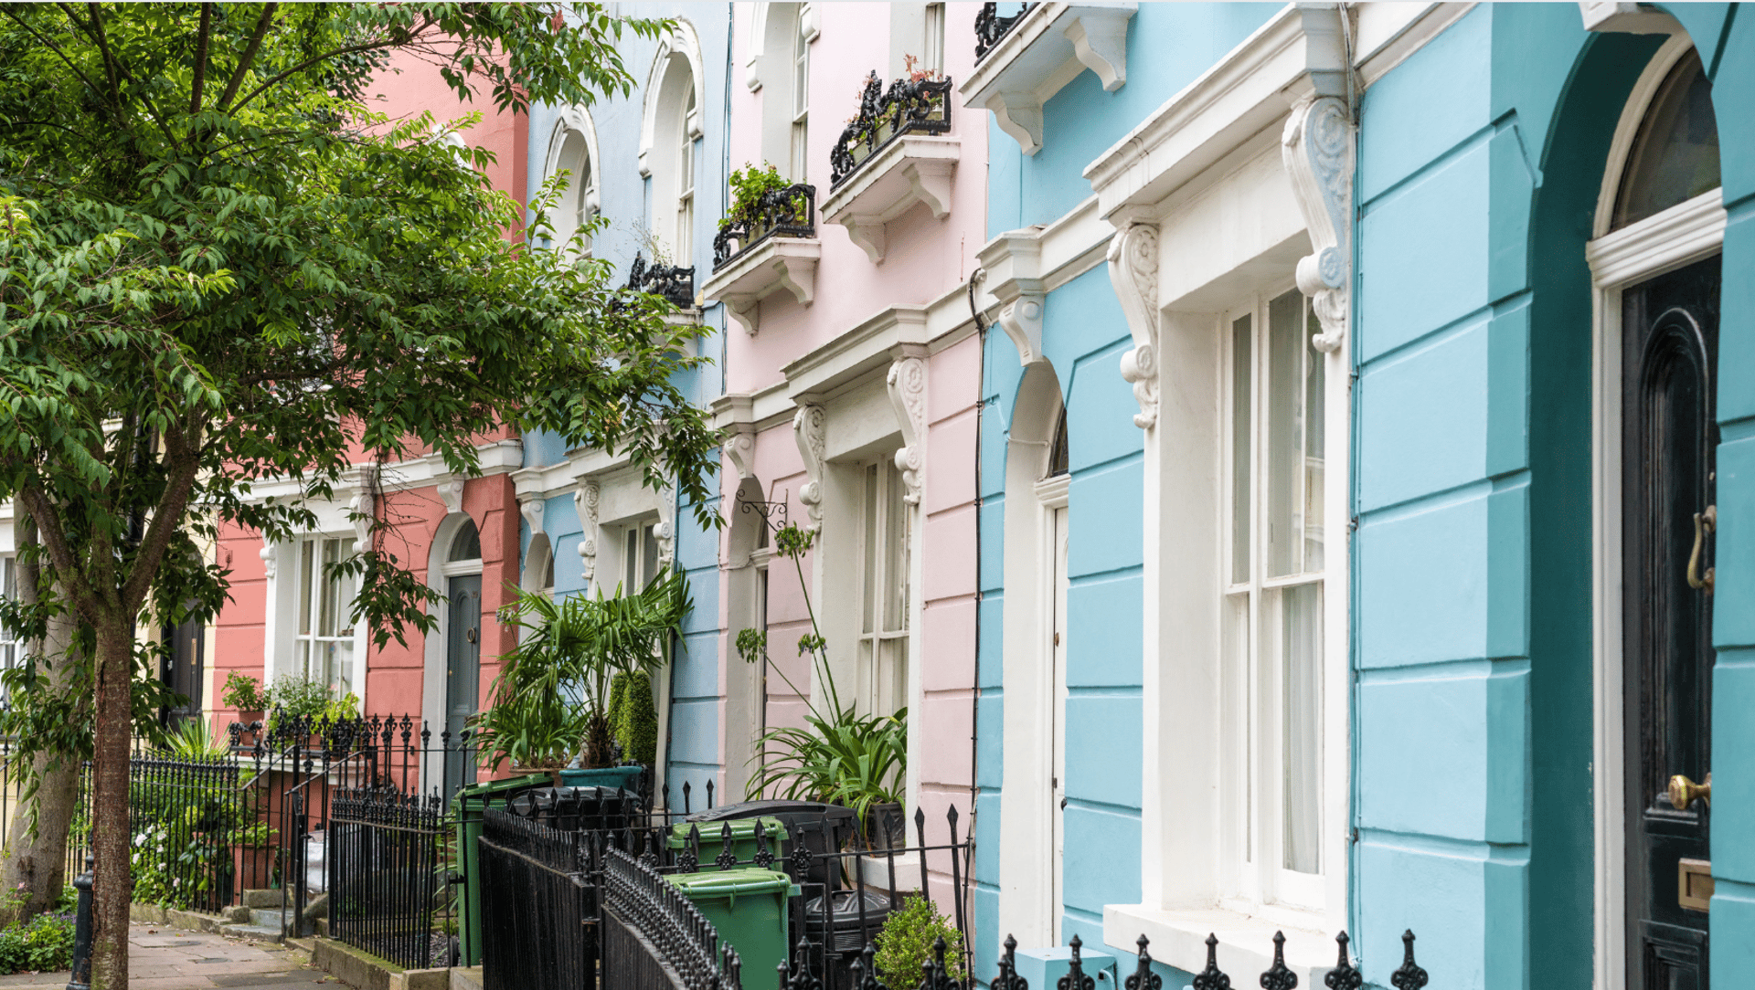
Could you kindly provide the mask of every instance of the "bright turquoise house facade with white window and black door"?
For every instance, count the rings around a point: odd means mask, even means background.
[[[1755,26],[990,25],[976,972],[1737,985]]]

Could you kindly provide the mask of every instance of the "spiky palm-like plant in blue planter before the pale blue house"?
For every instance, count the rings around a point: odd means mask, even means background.
[[[688,580],[679,573],[625,596],[618,587],[614,598],[518,592],[500,620],[525,636],[500,657],[491,704],[470,717],[483,762],[560,766],[583,745],[583,766],[609,766],[612,678],[662,666],[688,610]]]

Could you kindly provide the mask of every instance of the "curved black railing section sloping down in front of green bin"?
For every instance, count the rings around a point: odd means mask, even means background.
[[[621,850],[604,857],[604,986],[742,990],[742,962],[681,890]]]

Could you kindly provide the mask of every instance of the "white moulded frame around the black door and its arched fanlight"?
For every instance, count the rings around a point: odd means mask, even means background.
[[[1622,678],[1622,289],[1723,251],[1720,189],[1608,231],[1627,156],[1639,123],[1669,70],[1694,49],[1685,33],[1658,47],[1622,109],[1597,196],[1594,233],[1585,245],[1592,314],[1592,760],[1597,766],[1592,815],[1595,838],[1595,965],[1592,986],[1627,981],[1625,752],[1627,711]]]

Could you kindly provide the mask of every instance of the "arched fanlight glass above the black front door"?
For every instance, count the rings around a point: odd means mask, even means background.
[[[1660,214],[1718,187],[1713,82],[1694,49],[1669,70],[1634,137],[1609,230]]]

